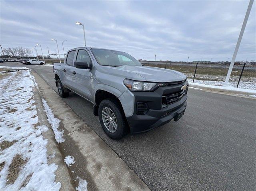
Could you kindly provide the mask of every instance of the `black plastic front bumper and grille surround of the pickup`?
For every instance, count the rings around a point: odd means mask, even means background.
[[[142,133],[162,126],[170,122],[177,114],[186,109],[187,95],[184,95],[179,100],[162,107],[162,97],[166,94],[180,91],[183,85],[188,85],[188,82],[185,81],[181,84],[170,87],[160,87],[154,92],[133,92],[135,97],[134,114],[127,117],[130,132],[132,134]],[[146,114],[138,114],[138,102],[144,102],[147,104],[148,111]]]

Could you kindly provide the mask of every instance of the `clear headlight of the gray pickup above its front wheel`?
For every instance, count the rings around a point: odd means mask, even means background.
[[[164,85],[163,83],[149,83],[124,79],[124,85],[130,91],[153,91],[156,87]]]

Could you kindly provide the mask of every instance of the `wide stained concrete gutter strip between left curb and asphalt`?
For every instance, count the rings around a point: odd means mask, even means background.
[[[64,130],[65,142],[60,144],[60,148],[64,157],[73,156],[76,161],[69,167],[73,179],[79,176],[88,181],[88,190],[150,190],[37,73],[32,74],[41,95],[61,120],[59,129]],[[78,186],[78,181],[75,184]]]

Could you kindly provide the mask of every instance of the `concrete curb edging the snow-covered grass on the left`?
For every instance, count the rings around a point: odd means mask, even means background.
[[[52,131],[51,125],[47,120],[46,113],[44,112],[44,106],[42,103],[41,95],[36,87],[33,87],[34,92],[34,100],[36,104],[36,110],[38,113],[39,124],[46,125],[48,127],[48,131],[42,132],[42,136],[44,139],[48,140],[47,148],[47,156],[54,155],[53,158],[48,158],[48,164],[56,163],[58,165],[58,169],[55,171],[56,177],[55,181],[61,183],[60,191],[71,191],[75,190],[74,181],[70,175],[70,171],[66,167],[64,163],[64,158],[60,151],[60,147],[58,146],[54,132]]]

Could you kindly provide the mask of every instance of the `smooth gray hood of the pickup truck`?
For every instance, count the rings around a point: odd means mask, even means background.
[[[136,73],[144,77],[148,82],[174,82],[186,79],[184,74],[164,68],[124,65],[118,67],[118,69]]]

